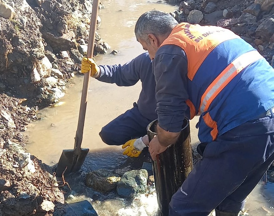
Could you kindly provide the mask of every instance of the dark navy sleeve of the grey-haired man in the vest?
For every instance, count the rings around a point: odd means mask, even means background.
[[[187,59],[178,46],[160,47],[152,62],[156,81],[156,112],[159,126],[169,132],[180,132],[189,98],[186,89]]]

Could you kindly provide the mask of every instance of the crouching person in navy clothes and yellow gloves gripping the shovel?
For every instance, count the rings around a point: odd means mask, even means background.
[[[155,79],[149,54],[143,53],[124,65],[100,65],[91,58],[84,57],[81,72],[91,70],[91,76],[118,86],[131,86],[139,80],[142,91],[133,108],[104,126],[99,133],[108,145],[123,145],[124,155],[137,157],[148,145],[147,125],[157,118],[155,112]]]

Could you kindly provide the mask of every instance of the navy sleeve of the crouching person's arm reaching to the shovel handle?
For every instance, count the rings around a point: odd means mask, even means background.
[[[131,86],[140,79],[140,65],[142,55],[124,65],[100,65],[101,74],[97,78],[105,83],[115,83],[118,86]]]

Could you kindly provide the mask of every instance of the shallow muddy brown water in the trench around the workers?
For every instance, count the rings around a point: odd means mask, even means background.
[[[171,5],[158,4],[156,1],[141,0],[105,0],[104,9],[100,12],[102,24],[99,32],[101,37],[109,43],[112,49],[119,50],[118,55],[99,55],[98,64],[123,64],[132,60],[143,52],[142,46],[136,41],[134,26],[138,17],[151,9],[171,12],[176,9]],[[28,127],[29,144],[27,148],[31,154],[37,156],[48,165],[58,162],[63,149],[73,149],[77,127],[79,104],[82,90],[82,77],[75,77],[73,85],[66,89],[67,94],[61,100],[61,105],[54,108],[40,110],[44,120],[33,122]],[[131,87],[118,87],[95,79],[90,80],[89,100],[85,119],[82,147],[90,149],[84,163],[84,170],[99,168],[116,169],[123,166],[127,157],[122,155],[120,146],[108,146],[102,142],[98,133],[108,122],[132,108],[141,90],[141,83]],[[197,137],[198,117],[190,121],[191,141],[195,145]],[[80,182],[80,183],[79,183]],[[107,215],[155,215],[157,209],[156,194],[148,197],[140,195],[133,202],[116,198],[115,195],[102,195],[84,187],[81,178],[75,177],[73,188],[77,199],[87,198],[101,216]],[[272,184],[268,189],[257,187],[248,197],[246,209],[249,215],[274,215]],[[81,195],[82,194],[82,195]],[[96,202],[93,202],[96,196]]]

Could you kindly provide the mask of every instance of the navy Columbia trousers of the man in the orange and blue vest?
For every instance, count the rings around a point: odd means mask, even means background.
[[[238,213],[272,164],[273,152],[273,113],[219,136],[172,196],[169,216],[206,216],[215,208]]]

